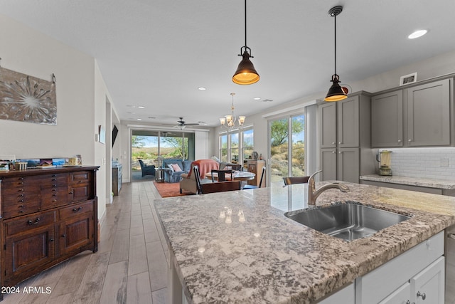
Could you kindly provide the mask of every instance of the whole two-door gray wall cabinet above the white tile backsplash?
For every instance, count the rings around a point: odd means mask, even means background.
[[[371,98],[371,147],[451,144],[451,79],[414,85]]]

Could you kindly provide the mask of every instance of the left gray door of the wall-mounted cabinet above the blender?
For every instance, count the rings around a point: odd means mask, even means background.
[[[371,146],[403,145],[403,93],[397,90],[371,98]]]

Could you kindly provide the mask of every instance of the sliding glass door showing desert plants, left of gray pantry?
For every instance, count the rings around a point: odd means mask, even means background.
[[[305,176],[305,115],[270,120],[269,146],[271,182],[283,182],[283,177]]]

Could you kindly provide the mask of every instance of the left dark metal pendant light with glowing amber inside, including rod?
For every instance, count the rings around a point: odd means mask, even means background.
[[[250,53],[248,53],[250,51]],[[232,81],[237,85],[252,85],[259,81],[259,74],[255,69],[255,65],[250,61],[251,48],[247,47],[247,0],[245,0],[245,46],[240,48],[240,54],[242,61],[240,61],[237,70],[232,76]]]

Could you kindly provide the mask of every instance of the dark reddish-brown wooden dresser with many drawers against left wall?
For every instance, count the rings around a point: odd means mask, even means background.
[[[98,168],[0,172],[1,286],[98,250]]]

